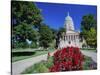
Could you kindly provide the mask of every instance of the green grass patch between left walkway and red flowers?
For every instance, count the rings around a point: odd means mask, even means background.
[[[31,73],[47,73],[49,68],[53,65],[53,57],[50,57],[48,61],[41,61],[27,68],[22,74],[31,74]]]

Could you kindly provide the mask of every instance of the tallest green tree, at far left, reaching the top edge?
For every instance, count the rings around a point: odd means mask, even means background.
[[[27,47],[26,39],[36,42],[42,17],[33,2],[12,1],[12,46]]]

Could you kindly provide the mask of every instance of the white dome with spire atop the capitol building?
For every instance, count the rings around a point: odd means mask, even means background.
[[[74,23],[73,23],[73,19],[72,17],[69,15],[67,15],[67,17],[65,18],[65,28],[67,31],[72,31],[74,30]]]

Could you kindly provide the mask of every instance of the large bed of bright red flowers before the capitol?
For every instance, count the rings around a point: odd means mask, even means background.
[[[82,70],[84,56],[77,47],[67,47],[54,53],[53,66],[50,72]]]

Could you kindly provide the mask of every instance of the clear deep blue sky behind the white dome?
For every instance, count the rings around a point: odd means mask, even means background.
[[[35,2],[37,7],[41,9],[43,22],[54,29],[64,27],[65,17],[69,15],[73,18],[75,30],[80,30],[82,16],[93,14],[97,17],[97,7],[90,5],[74,5],[74,4],[56,4]]]

